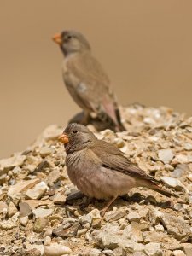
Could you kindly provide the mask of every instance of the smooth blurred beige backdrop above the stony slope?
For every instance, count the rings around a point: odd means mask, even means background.
[[[62,29],[86,35],[121,104],[191,114],[191,1],[2,0],[0,20],[0,158],[79,111],[50,39]]]

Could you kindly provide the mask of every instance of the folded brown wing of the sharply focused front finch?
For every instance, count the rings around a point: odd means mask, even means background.
[[[143,170],[128,160],[119,148],[116,148],[113,144],[97,140],[91,147],[91,150],[102,161],[102,166],[117,172],[123,172],[131,177],[147,179],[154,183],[160,183],[153,177],[148,176],[147,173],[143,172]]]

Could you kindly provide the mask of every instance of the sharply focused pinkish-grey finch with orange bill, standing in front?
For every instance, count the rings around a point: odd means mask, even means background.
[[[176,196],[160,188],[160,183],[148,176],[111,143],[98,140],[84,125],[70,124],[59,137],[64,144],[68,177],[84,194],[109,200],[102,215],[119,196],[134,187],[147,187],[162,195]]]

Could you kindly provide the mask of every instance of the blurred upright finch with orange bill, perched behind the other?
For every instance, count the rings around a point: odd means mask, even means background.
[[[73,100],[84,110],[81,124],[87,124],[90,113],[108,124],[114,131],[125,131],[119,107],[102,66],[91,55],[90,44],[84,35],[64,31],[53,37],[64,55],[62,74]]]

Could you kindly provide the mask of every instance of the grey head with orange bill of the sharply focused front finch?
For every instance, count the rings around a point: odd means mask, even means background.
[[[69,124],[58,138],[64,144],[67,153],[87,148],[96,141],[96,136],[84,125]]]

